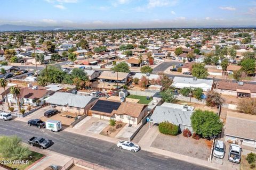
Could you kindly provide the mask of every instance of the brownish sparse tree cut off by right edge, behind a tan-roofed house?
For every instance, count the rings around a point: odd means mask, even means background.
[[[237,109],[246,114],[256,115],[256,98],[240,99]]]

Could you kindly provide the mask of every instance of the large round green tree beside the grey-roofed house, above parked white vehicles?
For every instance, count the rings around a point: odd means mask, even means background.
[[[203,138],[218,135],[222,130],[222,122],[217,114],[211,111],[196,110],[192,116],[191,125],[196,134],[202,135]]]

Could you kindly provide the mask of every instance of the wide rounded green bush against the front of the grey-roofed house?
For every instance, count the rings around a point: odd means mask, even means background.
[[[163,134],[177,135],[179,133],[179,126],[165,121],[159,123],[158,130]]]

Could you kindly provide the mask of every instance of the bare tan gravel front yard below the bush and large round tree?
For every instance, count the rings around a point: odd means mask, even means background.
[[[208,160],[211,154],[211,147],[206,145],[205,139],[195,140],[192,137],[185,138],[182,134],[177,136],[158,134],[151,147],[169,150],[177,154],[203,160]]]

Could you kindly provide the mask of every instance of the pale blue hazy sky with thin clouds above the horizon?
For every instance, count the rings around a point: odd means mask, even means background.
[[[74,28],[255,25],[250,0],[0,0],[0,24]]]

